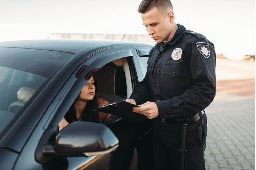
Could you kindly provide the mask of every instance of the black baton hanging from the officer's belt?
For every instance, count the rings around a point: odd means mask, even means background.
[[[187,132],[187,120],[181,121],[181,148],[179,151],[179,170],[184,170],[184,158],[185,158],[185,145],[186,145],[186,132]]]

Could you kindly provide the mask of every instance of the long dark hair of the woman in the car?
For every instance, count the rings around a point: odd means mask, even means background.
[[[85,108],[83,109],[82,114],[81,114],[81,120],[82,121],[98,122],[98,114],[97,114],[97,112],[94,111],[94,109],[97,108],[97,96],[96,96],[97,95],[97,81],[95,79],[95,76],[93,76],[93,78],[94,78],[94,86],[95,86],[95,95],[94,95],[92,100],[89,100],[87,102]],[[78,94],[78,96],[75,99],[74,103],[72,104],[72,106],[70,107],[69,111],[65,115],[65,119],[69,123],[78,120],[77,116],[75,115],[75,113],[76,113],[76,111],[75,111],[75,104],[79,100],[80,93]]]

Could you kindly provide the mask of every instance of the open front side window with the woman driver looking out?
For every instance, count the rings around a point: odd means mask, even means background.
[[[89,92],[93,94],[88,94]],[[101,108],[112,102],[122,101],[125,98],[127,98],[126,78],[122,60],[118,59],[107,63],[93,77],[85,81],[64,119],[59,122],[59,130],[78,120],[107,123],[116,116],[103,112],[94,112],[94,109]],[[84,101],[86,101],[86,104]],[[82,113],[78,111],[81,106],[84,107]]]

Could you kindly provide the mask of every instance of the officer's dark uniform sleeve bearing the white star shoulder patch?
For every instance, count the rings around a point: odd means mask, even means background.
[[[194,40],[189,43],[187,54],[193,84],[183,94],[156,103],[163,117],[192,116],[205,109],[215,97],[216,54],[213,44],[206,39]]]

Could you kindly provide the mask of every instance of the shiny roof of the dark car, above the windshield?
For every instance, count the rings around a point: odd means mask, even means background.
[[[92,46],[149,46],[152,45],[113,41],[113,40],[92,40],[92,39],[41,39],[41,40],[18,40],[0,42],[0,47],[30,48],[51,51],[61,51],[77,54],[79,51]]]

